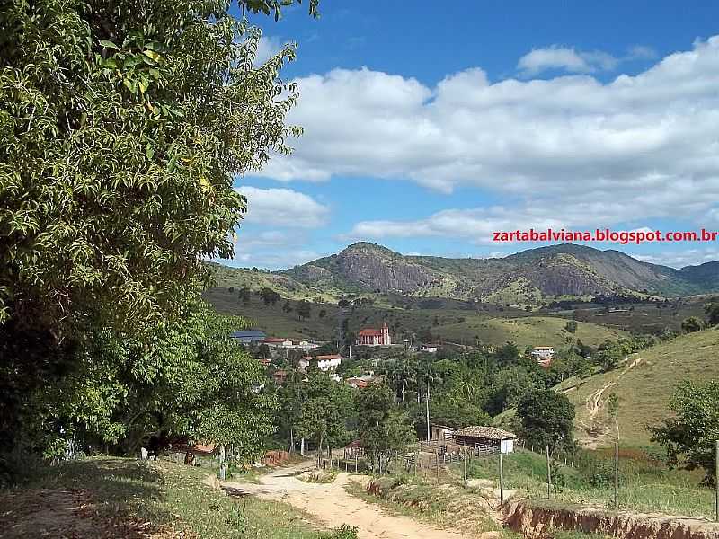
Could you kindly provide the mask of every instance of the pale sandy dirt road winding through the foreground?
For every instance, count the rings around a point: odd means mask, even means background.
[[[389,515],[375,504],[348,494],[348,473],[339,473],[332,483],[302,482],[297,473],[312,463],[297,464],[262,476],[261,484],[223,482],[237,494],[253,494],[264,499],[284,501],[319,518],[326,526],[359,526],[360,539],[469,539],[468,535],[440,530],[409,517]]]

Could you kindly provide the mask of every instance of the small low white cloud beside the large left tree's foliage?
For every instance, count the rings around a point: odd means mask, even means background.
[[[244,221],[270,226],[316,228],[324,225],[329,208],[304,193],[291,189],[260,189],[243,186],[236,190],[247,198]]]

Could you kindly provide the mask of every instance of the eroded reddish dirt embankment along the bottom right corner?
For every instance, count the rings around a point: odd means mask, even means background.
[[[666,517],[598,508],[542,508],[510,503],[504,524],[529,539],[553,536],[556,529],[606,534],[624,539],[719,539],[719,524],[701,518]]]

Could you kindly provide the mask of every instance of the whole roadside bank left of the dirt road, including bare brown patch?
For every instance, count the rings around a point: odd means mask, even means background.
[[[0,492],[4,537],[36,536],[41,528],[50,536],[112,539],[356,537],[348,526],[324,531],[284,503],[228,496],[206,484],[208,473],[200,467],[96,457],[38,472],[22,488]]]

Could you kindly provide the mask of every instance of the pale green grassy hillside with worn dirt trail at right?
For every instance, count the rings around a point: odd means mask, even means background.
[[[683,380],[719,379],[718,357],[719,329],[697,331],[636,354],[630,362],[641,358],[640,363],[623,375],[623,369],[617,369],[592,376],[566,394],[576,406],[578,424],[590,423],[587,399],[616,382],[603,393],[597,420],[608,421],[606,399],[610,393],[617,393],[621,436],[628,444],[642,445],[650,439],[646,426],[656,424],[670,413],[669,401],[677,384]],[[575,385],[576,381],[571,379],[560,387],[567,389]],[[577,429],[577,436],[587,437],[581,428]]]

